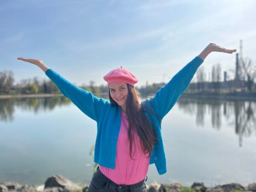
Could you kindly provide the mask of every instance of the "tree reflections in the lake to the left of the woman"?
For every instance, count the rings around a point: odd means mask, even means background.
[[[33,111],[37,114],[41,111],[52,111],[56,106],[70,105],[70,103],[70,99],[64,96],[0,99],[0,120],[12,122],[15,108],[22,111]]]

